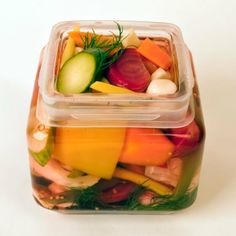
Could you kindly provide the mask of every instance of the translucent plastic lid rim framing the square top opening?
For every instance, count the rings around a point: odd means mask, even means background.
[[[147,93],[64,95],[56,91],[58,58],[68,32],[75,25],[81,31],[94,29],[98,34],[116,32],[113,21],[61,22],[52,29],[39,74],[38,119],[48,126],[68,127],[181,127],[194,118],[192,104],[193,71],[189,53],[178,27],[167,23],[119,21],[125,31],[133,28],[140,38],[162,39],[168,43],[178,85],[173,95]]]

